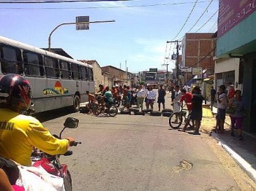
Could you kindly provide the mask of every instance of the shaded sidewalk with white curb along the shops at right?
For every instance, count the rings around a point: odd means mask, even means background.
[[[211,111],[211,109],[208,109]],[[214,117],[217,114],[217,108],[213,107]],[[235,130],[235,136],[230,136],[230,117],[228,114],[225,119],[225,133],[211,133],[214,139],[233,157],[234,160],[246,171],[246,173],[256,182],[256,136],[243,132],[244,139],[238,140],[238,132]]]

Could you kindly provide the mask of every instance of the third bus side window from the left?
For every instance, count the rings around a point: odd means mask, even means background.
[[[54,58],[45,57],[46,77],[59,78],[59,61]]]

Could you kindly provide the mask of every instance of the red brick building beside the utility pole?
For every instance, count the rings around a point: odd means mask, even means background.
[[[181,71],[184,84],[192,79],[192,68],[202,67],[206,74],[214,74],[216,37],[214,33],[189,33],[182,39]]]

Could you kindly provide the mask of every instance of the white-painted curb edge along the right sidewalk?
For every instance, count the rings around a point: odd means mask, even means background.
[[[256,182],[256,170],[255,168],[252,168],[252,165],[250,165],[249,163],[247,163],[246,160],[244,160],[244,158],[242,158],[240,155],[238,155],[237,152],[235,152],[231,147],[229,147],[225,141],[220,141],[217,136],[214,136],[212,134],[212,136],[214,137],[214,139],[216,139],[218,141],[218,144],[225,149],[225,151],[231,156],[233,157],[234,160],[236,160],[236,163],[238,163],[238,165],[246,172],[246,174],[249,175],[249,177],[251,177],[251,179]]]

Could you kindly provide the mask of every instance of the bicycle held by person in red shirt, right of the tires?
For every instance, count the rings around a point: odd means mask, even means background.
[[[169,118],[169,125],[171,128],[177,129],[181,126],[183,119],[186,124],[189,122],[189,127],[193,127],[192,121],[189,120],[190,113],[187,114],[187,111],[184,111],[184,105],[181,103],[181,110],[179,112],[173,112]]]

